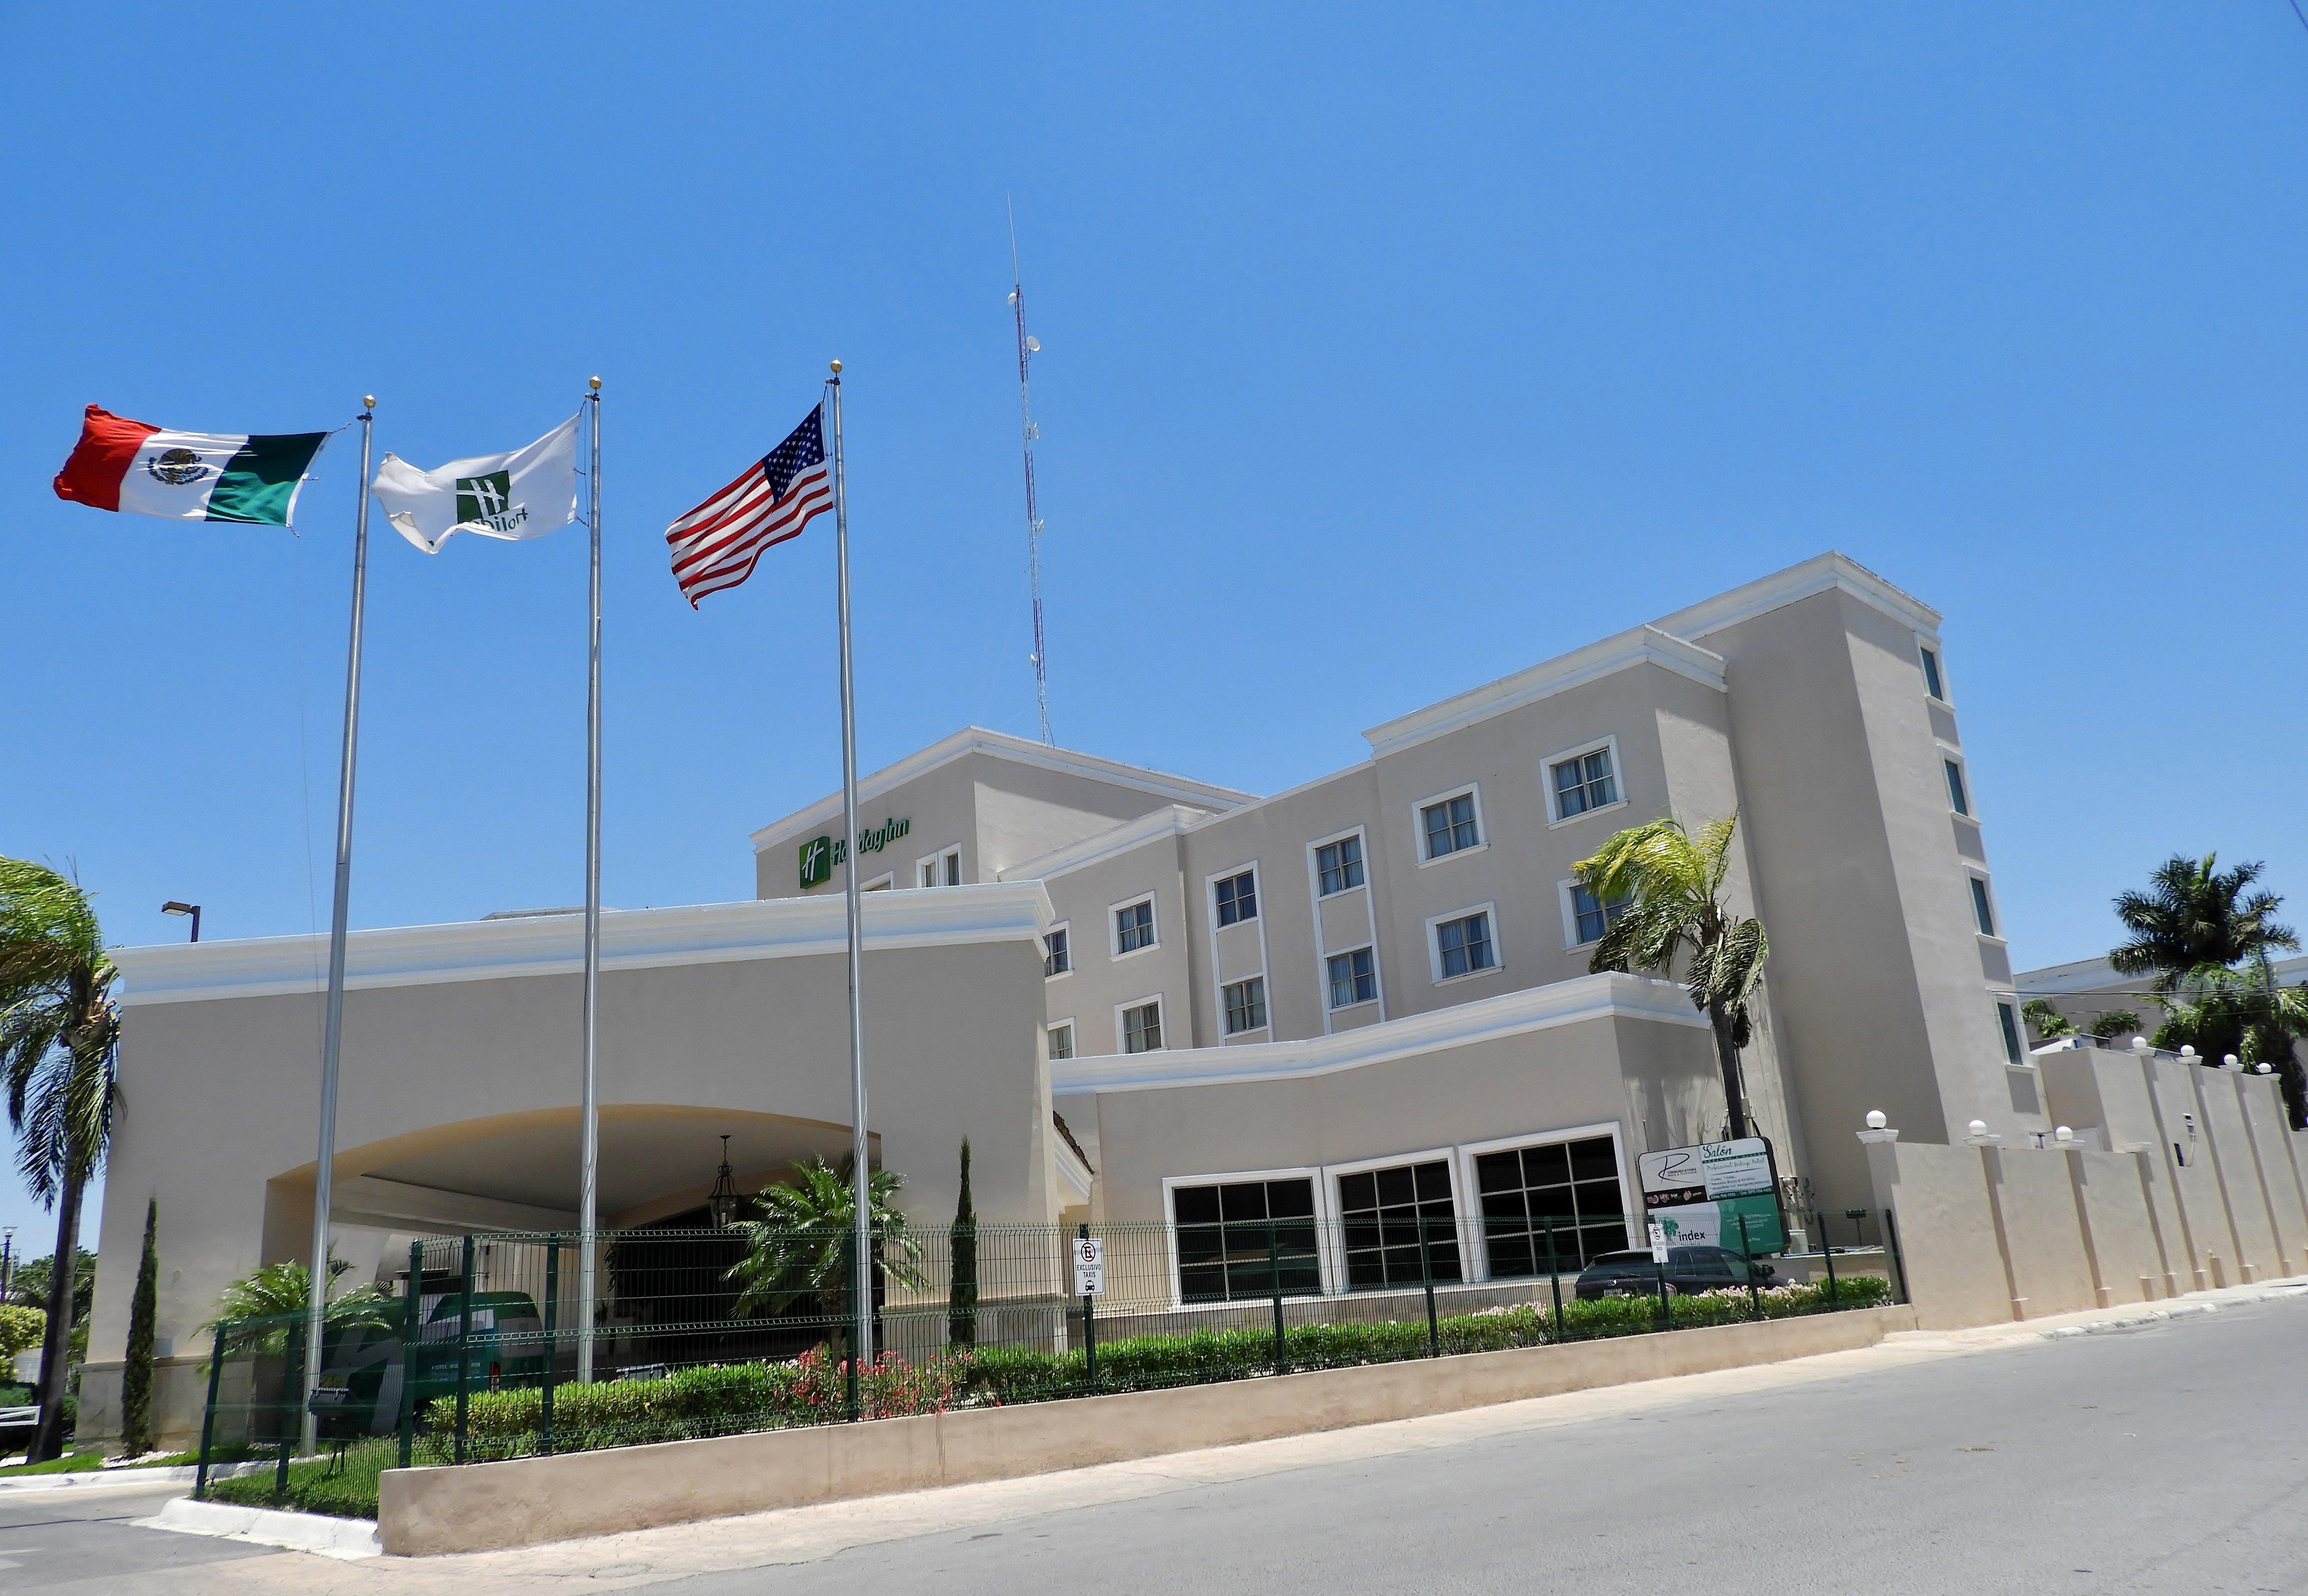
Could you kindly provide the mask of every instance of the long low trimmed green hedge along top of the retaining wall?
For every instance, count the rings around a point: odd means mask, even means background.
[[[1876,1308],[1890,1301],[1890,1282],[1856,1275],[1826,1285],[1791,1285],[1759,1292],[1706,1292],[1671,1296],[1673,1328],[1743,1324],[1756,1303],[1766,1319],[1786,1319],[1835,1308]],[[1606,1296],[1563,1303],[1563,1340],[1646,1335],[1659,1328],[1655,1296]],[[1484,1308],[1438,1319],[1445,1354],[1505,1352],[1558,1340],[1551,1301]],[[1290,1370],[1396,1363],[1429,1354],[1426,1322],[1292,1324],[1283,1328]],[[785,1430],[835,1423],[847,1416],[847,1363],[812,1347],[792,1363],[709,1363],[674,1370],[662,1379],[614,1379],[554,1388],[554,1451],[598,1451],[646,1441],[685,1441],[709,1435]],[[1099,1382],[1089,1386],[1089,1363],[1080,1349],[1029,1352],[1022,1347],[967,1347],[921,1363],[896,1354],[861,1377],[861,1400],[870,1418],[937,1414],[956,1407],[1050,1402],[1059,1398],[1161,1391],[1274,1372],[1272,1328],[1191,1331],[1186,1335],[1124,1335],[1099,1345]],[[466,1407],[466,1458],[526,1458],[542,1444],[545,1402],[535,1386],[473,1391]],[[415,1462],[455,1458],[455,1398],[434,1398],[425,1409]],[[265,1476],[270,1478],[270,1476]]]

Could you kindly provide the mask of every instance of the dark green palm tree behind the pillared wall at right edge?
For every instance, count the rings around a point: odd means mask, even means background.
[[[2292,1123],[2308,1128],[2308,1077],[2292,1038],[2308,1036],[2308,987],[2278,987],[2271,955],[2301,939],[2276,920],[2283,897],[2248,890],[2262,863],[2218,867],[2174,853],[2149,876],[2146,893],[2116,893],[2116,918],[2130,941],[2107,955],[2123,976],[2153,976],[2165,1008],[2158,1047],[2190,1045],[2206,1059],[2236,1054],[2273,1066],[2283,1077]]]

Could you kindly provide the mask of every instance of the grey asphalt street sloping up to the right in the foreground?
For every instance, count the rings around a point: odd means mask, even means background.
[[[651,1591],[2308,1591],[2308,1292]]]

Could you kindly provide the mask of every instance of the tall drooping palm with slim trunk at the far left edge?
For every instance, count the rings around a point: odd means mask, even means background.
[[[0,858],[0,1079],[16,1169],[35,1199],[55,1206],[62,1259],[74,1257],[81,1192],[104,1162],[120,1114],[115,978],[88,893],[46,865]],[[65,1451],[72,1275],[58,1268],[48,1280],[30,1462]]]

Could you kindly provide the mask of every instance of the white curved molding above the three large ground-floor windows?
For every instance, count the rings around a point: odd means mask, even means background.
[[[1069,1059],[1064,1066],[1050,1066],[1050,1091],[1161,1091],[1168,1086],[1304,1079],[1590,1019],[1646,1019],[1692,1031],[1708,1029],[1706,1015],[1692,1008],[1680,983],[1613,971],[1500,992],[1475,1003],[1452,1003],[1424,1015],[1403,1015],[1292,1042],[1170,1047],[1159,1056]]]

